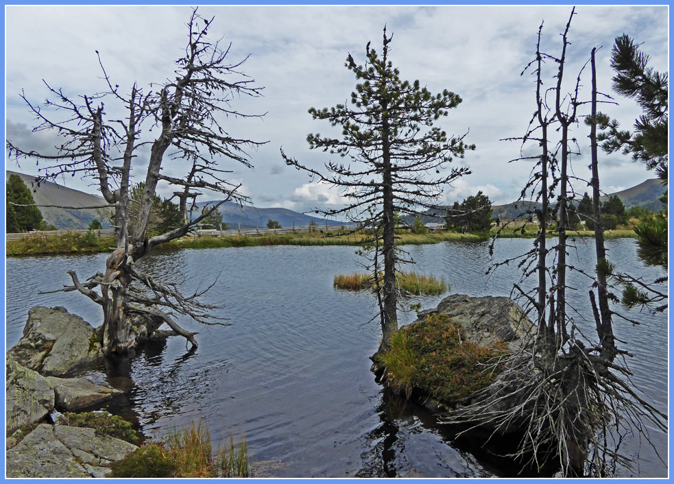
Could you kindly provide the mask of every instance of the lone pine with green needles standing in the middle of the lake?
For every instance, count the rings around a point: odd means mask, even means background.
[[[384,28],[381,57],[368,43],[365,64],[357,65],[349,54],[346,67],[359,84],[351,93],[350,106],[338,104],[322,110],[311,108],[313,119],[324,119],[339,126],[342,138],[309,134],[312,149],[349,158],[346,165],[328,162],[326,171],[306,167],[282,151],[285,162],[311,173],[315,179],[336,186],[350,199],[348,206],[335,210],[317,210],[326,216],[342,215],[370,231],[366,241],[371,250],[370,265],[374,277],[382,348],[387,348],[398,330],[398,289],[396,266],[407,260],[396,250],[394,214],[418,214],[420,209],[435,208],[442,186],[468,173],[453,168],[435,179],[453,157],[462,158],[474,145],[466,145],[463,136],[448,138],[433,126],[435,121],[457,107],[461,98],[444,90],[431,95],[419,81],[400,80],[398,69],[389,60],[392,36]],[[383,267],[383,280],[380,271]]]

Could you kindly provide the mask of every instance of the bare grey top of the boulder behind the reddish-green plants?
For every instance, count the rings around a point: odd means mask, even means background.
[[[482,346],[489,346],[498,339],[521,346],[535,334],[531,320],[510,298],[472,298],[465,294],[453,294],[440,301],[437,308],[420,311],[417,321],[436,313],[444,313],[461,324],[466,337]]]

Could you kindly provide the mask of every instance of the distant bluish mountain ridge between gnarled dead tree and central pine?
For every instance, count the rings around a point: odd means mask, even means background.
[[[206,204],[214,204],[217,201],[198,202],[197,206],[203,207]],[[218,210],[222,214],[222,221],[229,224],[230,229],[235,228],[267,228],[267,221],[276,220],[281,227],[306,227],[309,222],[314,221],[318,225],[325,225],[326,219],[311,217],[303,213],[294,212],[287,208],[259,208],[254,206],[239,206],[234,202],[225,202],[219,206]],[[341,221],[327,220],[328,225],[339,225]]]

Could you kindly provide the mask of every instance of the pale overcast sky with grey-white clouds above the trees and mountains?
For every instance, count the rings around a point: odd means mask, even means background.
[[[463,102],[440,119],[448,134],[461,135],[477,149],[457,165],[472,174],[445,187],[445,202],[453,203],[478,190],[494,204],[512,202],[529,176],[527,162],[508,163],[520,156],[519,143],[500,141],[522,136],[535,109],[535,84],[529,73],[520,76],[533,60],[536,35],[544,21],[544,51],[559,55],[561,36],[570,6],[433,6],[433,7],[213,7],[200,8],[202,16],[215,16],[213,38],[232,43],[230,58],[245,62],[242,71],[259,86],[264,97],[234,99],[233,106],[250,114],[267,113],[263,119],[228,119],[225,127],[234,136],[268,141],[251,152],[254,169],[224,161],[231,181],[241,182],[243,192],[256,206],[283,206],[306,211],[315,206],[338,205],[339,193],[311,183],[305,173],[285,166],[286,154],[306,165],[319,167],[330,155],[312,151],[306,143],[310,132],[330,134],[326,121],[313,121],[310,107],[324,108],[346,102],[356,81],[344,61],[351,53],[362,64],[365,45],[381,51],[384,25],[394,34],[389,57],[407,80],[420,80],[433,93],[448,89]],[[651,56],[651,66],[668,69],[668,10],[666,6],[627,7],[580,5],[570,29],[568,90],[588,60],[592,47],[597,55],[599,90],[612,93],[610,51],[614,38],[623,33]],[[132,82],[147,86],[172,77],[173,61],[184,52],[186,21],[191,9],[183,6],[135,7],[7,7],[5,10],[6,134],[24,149],[49,149],[56,144],[45,133],[32,133],[34,120],[27,112],[21,90],[39,103],[47,92],[46,80],[69,95],[91,94],[104,89],[95,50],[113,82],[128,89]],[[552,69],[548,65],[550,86]],[[583,77],[589,99],[589,71]],[[634,101],[616,97],[619,106],[603,110],[631,128],[640,110]],[[106,104],[108,114],[114,106]],[[575,160],[576,176],[587,175],[585,154],[588,131],[581,124],[577,137],[583,157]],[[59,143],[60,144],[60,143]],[[529,152],[527,152],[529,154]],[[336,156],[333,156],[335,159]],[[139,160],[141,162],[142,160]],[[10,170],[36,173],[35,163],[23,160],[21,168],[8,162]],[[140,176],[142,168],[136,168]],[[180,167],[167,173],[180,176]],[[611,193],[655,178],[629,156],[601,154],[601,186]],[[69,178],[62,184],[95,193],[90,181]],[[577,182],[581,193],[586,184]]]

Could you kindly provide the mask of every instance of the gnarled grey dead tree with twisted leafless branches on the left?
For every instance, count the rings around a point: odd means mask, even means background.
[[[182,295],[174,285],[154,280],[137,264],[154,247],[193,230],[219,204],[245,200],[237,192],[239,186],[226,181],[228,171],[219,163],[230,160],[251,167],[246,149],[261,143],[230,136],[223,122],[226,118],[257,117],[234,110],[230,101],[236,96],[258,97],[262,88],[239,70],[245,59],[230,63],[230,45],[210,40],[212,22],[193,11],[186,25],[184,56],[176,60],[175,78],[152,84],[147,93],[134,83],[130,93],[123,94],[119,85],[112,84],[99,56],[106,82],[102,92],[71,97],[45,82],[50,97],[44,110],[21,95],[36,117],[34,131],[54,132],[62,144],[56,146],[56,154],[47,154],[8,141],[10,158],[37,160],[45,180],[68,174],[93,178],[108,206],[115,210],[117,248],[108,258],[104,274],[81,283],[70,271],[73,286],[64,288],[77,289],[103,307],[106,354],[125,352],[135,345],[132,320],[139,315],[154,318],[156,326],[167,323],[193,346],[197,346],[193,333],[180,328],[175,315],[219,324],[209,316],[213,307],[200,302],[201,293]],[[125,112],[125,117],[107,119],[110,106]],[[148,138],[155,133],[154,139]],[[169,163],[184,166],[184,176],[168,176],[163,168]],[[140,204],[134,210],[137,220],[130,230],[132,167],[136,173],[145,170],[145,178]],[[160,184],[173,188],[171,199],[178,201],[182,224],[148,237],[150,211]],[[190,208],[204,191],[218,193],[222,201],[190,219]],[[95,287],[100,287],[100,293]]]

